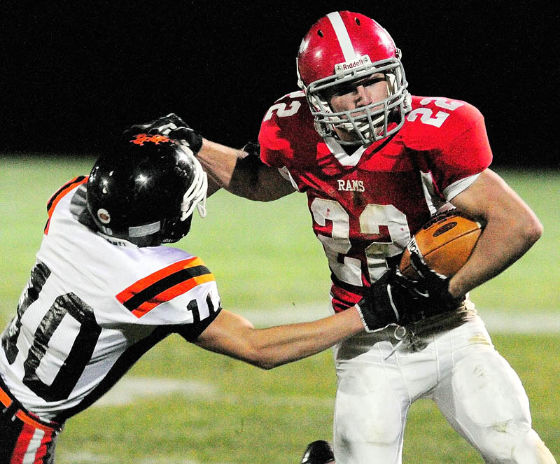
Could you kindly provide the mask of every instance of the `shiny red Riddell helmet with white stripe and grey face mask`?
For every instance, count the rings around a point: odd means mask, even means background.
[[[349,81],[383,73],[388,97],[351,111],[335,113],[325,90]],[[322,17],[304,36],[297,54],[298,85],[305,92],[315,118],[315,129],[334,136],[339,143],[363,145],[394,134],[410,111],[405,70],[400,50],[388,32],[370,17],[341,11]],[[342,141],[334,128],[356,135],[356,141]]]

